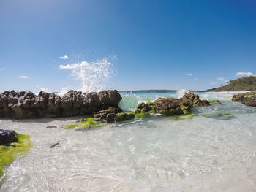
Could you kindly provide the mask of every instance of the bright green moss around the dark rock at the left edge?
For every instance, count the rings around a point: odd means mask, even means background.
[[[16,134],[16,136],[18,142],[14,142],[10,146],[0,145],[0,177],[5,167],[12,164],[16,158],[23,158],[33,145],[33,143],[29,141],[29,135]]]

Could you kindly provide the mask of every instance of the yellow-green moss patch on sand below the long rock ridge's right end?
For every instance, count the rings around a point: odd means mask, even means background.
[[[70,129],[70,128],[91,128],[91,127],[101,127],[104,126],[105,123],[100,123],[99,121],[94,121],[94,118],[86,118],[83,119],[83,121],[78,122],[78,123],[72,123],[72,124],[67,124],[64,126],[65,129]]]

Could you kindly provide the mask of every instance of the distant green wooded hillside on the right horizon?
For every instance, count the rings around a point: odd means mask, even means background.
[[[243,77],[230,80],[227,85],[215,88],[211,91],[256,91],[256,77]]]

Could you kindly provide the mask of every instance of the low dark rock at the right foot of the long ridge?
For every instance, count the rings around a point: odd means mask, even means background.
[[[95,121],[102,123],[113,123],[135,118],[133,113],[122,112],[119,107],[109,107],[107,110],[102,110],[94,114]]]

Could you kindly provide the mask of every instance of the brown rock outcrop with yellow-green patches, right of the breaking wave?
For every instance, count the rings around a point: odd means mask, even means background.
[[[194,93],[185,93],[181,99],[159,98],[154,102],[138,104],[135,113],[160,113],[162,115],[187,114],[192,107],[208,106],[207,100],[200,100]]]

